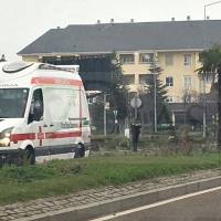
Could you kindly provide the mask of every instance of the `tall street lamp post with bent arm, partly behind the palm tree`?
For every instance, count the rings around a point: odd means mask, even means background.
[[[221,1],[215,1],[209,4],[204,6],[204,33],[203,33],[203,50],[206,50],[207,44],[207,30],[206,30],[206,24],[207,24],[207,7],[217,4],[217,3],[221,3]],[[206,137],[206,127],[207,127],[207,116],[206,116],[206,75],[203,74],[203,137]]]

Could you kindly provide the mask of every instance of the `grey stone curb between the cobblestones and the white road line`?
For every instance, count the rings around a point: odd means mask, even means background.
[[[167,188],[124,196],[113,200],[102,201],[101,203],[90,203],[83,207],[67,208],[54,212],[17,219],[14,221],[83,221],[220,186],[221,176],[192,181],[185,185],[176,185]]]

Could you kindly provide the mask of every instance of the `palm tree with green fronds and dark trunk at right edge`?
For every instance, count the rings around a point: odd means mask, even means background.
[[[218,76],[218,149],[221,150],[221,45],[213,44],[212,48],[199,53],[199,61],[202,66],[196,72],[201,78],[212,74],[214,85],[215,75]]]

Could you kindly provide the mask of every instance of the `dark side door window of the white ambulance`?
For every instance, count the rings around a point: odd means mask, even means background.
[[[38,88],[33,92],[28,123],[39,122],[43,117],[43,94],[42,90]]]

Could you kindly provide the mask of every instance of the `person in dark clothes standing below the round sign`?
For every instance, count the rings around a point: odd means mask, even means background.
[[[130,129],[131,129],[131,140],[133,140],[133,151],[137,151],[137,143],[139,139],[139,134],[140,134],[140,120],[135,117],[130,122]]]

